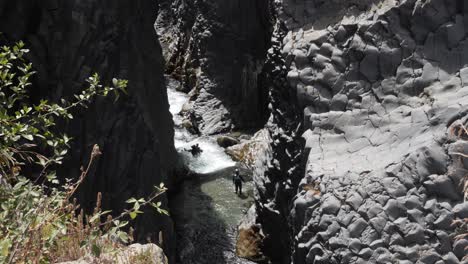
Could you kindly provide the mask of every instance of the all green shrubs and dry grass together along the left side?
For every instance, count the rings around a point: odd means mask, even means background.
[[[71,111],[87,107],[96,96],[113,93],[117,99],[126,93],[127,81],[113,79],[112,86],[103,86],[95,74],[71,102],[34,104],[28,89],[35,72],[24,59],[27,52],[22,42],[4,46],[0,52],[0,263],[99,258],[132,240],[131,228],[124,229],[142,213],[142,207],[151,205],[167,214],[155,202],[166,188],[161,184],[147,199],[128,200],[130,208],[117,217],[101,209],[101,194],[91,215],[80,211],[71,199],[101,151],[95,145],[80,177],[59,184],[51,168],[62,163],[71,139],[56,124],[73,119]],[[22,175],[22,171],[28,173]]]

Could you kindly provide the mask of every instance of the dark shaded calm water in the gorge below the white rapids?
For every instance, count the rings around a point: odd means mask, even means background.
[[[231,208],[222,208],[226,204],[219,204],[216,197],[206,193],[206,186],[210,183],[219,186],[214,181],[229,181],[231,172],[232,168],[212,174],[194,175],[175,194],[172,216],[176,221],[177,263],[251,263],[235,254],[236,225],[240,217],[237,210],[248,206],[246,202],[251,195],[243,193],[238,196],[234,202],[239,203],[239,206],[234,212],[230,212]],[[221,195],[222,192],[231,191],[226,193],[226,200],[232,201],[236,197],[234,187],[226,190],[221,186],[219,191]],[[233,215],[229,217],[229,213]]]

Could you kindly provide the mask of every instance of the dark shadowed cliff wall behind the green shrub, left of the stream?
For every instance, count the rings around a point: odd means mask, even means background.
[[[103,193],[104,207],[120,210],[130,196],[144,197],[160,182],[171,185],[176,152],[162,52],[153,28],[156,14],[151,0],[0,1],[2,38],[24,40],[31,50],[38,72],[35,96],[70,97],[94,72],[104,83],[112,77],[129,80],[128,96],[116,103],[96,100],[79,110],[68,127],[74,144],[63,177],[79,174],[94,143],[103,152],[79,194],[87,207],[97,192]],[[136,231],[155,242],[162,231],[166,253],[172,256],[168,217],[144,214]]]

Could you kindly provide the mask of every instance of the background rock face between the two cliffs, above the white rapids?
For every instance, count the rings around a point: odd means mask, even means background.
[[[156,23],[168,71],[192,90],[192,123],[203,134],[261,126],[259,84],[271,36],[268,0],[161,1]]]

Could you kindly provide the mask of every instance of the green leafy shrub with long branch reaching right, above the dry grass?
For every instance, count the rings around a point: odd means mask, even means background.
[[[88,87],[75,95],[73,102],[40,100],[31,105],[28,87],[35,72],[23,58],[27,52],[22,42],[12,48],[4,46],[0,52],[0,173],[7,180],[16,177],[26,163],[41,166],[42,174],[50,165],[62,163],[70,138],[55,131],[57,119],[73,119],[70,110],[86,107],[96,96],[113,92],[118,98],[120,93],[126,93],[126,80],[113,79],[113,86],[103,86],[94,74],[86,80]]]

